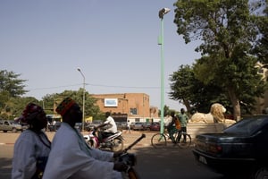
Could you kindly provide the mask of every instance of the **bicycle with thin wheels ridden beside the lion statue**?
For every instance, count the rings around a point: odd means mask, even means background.
[[[184,137],[186,137],[186,141],[184,141]],[[163,133],[155,133],[155,135],[151,138],[151,144],[154,148],[164,148],[167,146],[167,140],[170,139],[169,133],[165,130]],[[186,149],[190,147],[192,138],[190,134],[187,132],[182,132],[181,130],[174,133],[174,139],[176,143],[174,146],[179,146],[181,149]]]

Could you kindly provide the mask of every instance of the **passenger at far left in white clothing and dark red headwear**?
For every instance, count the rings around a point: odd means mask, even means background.
[[[42,131],[47,125],[46,113],[42,107],[29,103],[18,121],[29,128],[15,142],[12,179],[42,178],[51,144]]]

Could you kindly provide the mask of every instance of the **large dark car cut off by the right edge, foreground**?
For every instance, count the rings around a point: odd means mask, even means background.
[[[242,119],[222,133],[197,135],[193,154],[222,175],[268,178],[268,115]]]

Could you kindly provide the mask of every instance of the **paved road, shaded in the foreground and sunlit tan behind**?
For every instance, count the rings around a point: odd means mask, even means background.
[[[142,132],[123,133],[125,146],[138,139]],[[180,149],[168,146],[165,149],[154,149],[150,145],[152,132],[135,145],[130,152],[136,153],[138,165],[135,167],[141,179],[222,179],[221,175],[198,166],[191,149]],[[11,178],[13,143],[20,133],[0,132],[0,178]],[[53,139],[54,132],[47,132]]]

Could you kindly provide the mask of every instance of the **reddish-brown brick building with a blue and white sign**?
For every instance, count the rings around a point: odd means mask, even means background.
[[[127,114],[129,118],[158,117],[158,108],[150,107],[150,97],[145,93],[91,94],[103,112]]]

